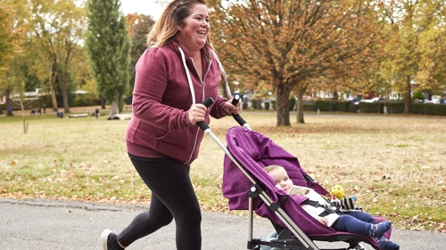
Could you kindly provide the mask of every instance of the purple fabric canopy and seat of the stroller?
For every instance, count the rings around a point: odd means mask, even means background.
[[[251,178],[260,183],[268,197],[273,202],[278,201],[277,195],[285,195],[283,190],[278,190],[274,185],[272,177],[266,173],[263,168],[267,165],[282,165],[287,171],[294,185],[308,186],[316,190],[321,195],[328,192],[317,182],[307,181],[305,175],[307,173],[301,168],[297,157],[289,154],[285,149],[279,147],[274,141],[268,137],[256,133],[244,127],[232,127],[227,130],[226,134],[227,150],[241,165]],[[248,190],[254,183],[243,173],[240,168],[235,165],[230,157],[225,156],[223,171],[223,196],[228,198],[228,206],[231,210],[248,210],[249,198]],[[326,227],[311,217],[303,208],[301,201],[304,197],[290,196],[283,204],[285,212],[293,219],[296,224],[305,231],[310,237],[324,237],[332,235],[351,235],[348,232],[337,232],[330,227]],[[274,214],[261,198],[253,198],[253,209],[256,214],[261,217],[268,218],[272,222],[286,228],[276,214]],[[390,235],[389,235],[390,237]],[[376,248],[379,247],[376,241],[369,238],[371,244]],[[378,248],[376,248],[378,249]]]

